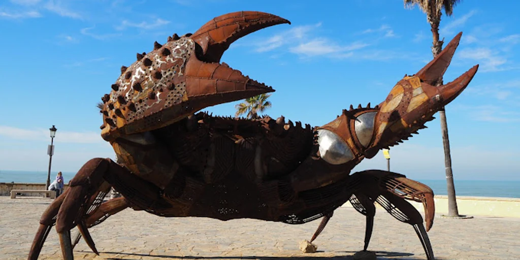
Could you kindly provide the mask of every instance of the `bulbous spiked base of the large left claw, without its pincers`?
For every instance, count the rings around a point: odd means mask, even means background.
[[[182,37],[164,46],[155,44],[153,51],[137,54],[136,62],[122,68],[112,92],[103,97],[103,138],[118,128],[146,129],[151,121],[189,110],[179,105],[188,99],[183,75],[194,50],[195,43]]]

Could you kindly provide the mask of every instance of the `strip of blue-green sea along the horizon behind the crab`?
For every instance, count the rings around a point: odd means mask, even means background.
[[[57,172],[50,173],[50,180]],[[65,183],[76,173],[62,172]],[[0,170],[0,183],[45,183],[47,172],[3,171]],[[432,188],[436,195],[447,195],[446,180],[417,180]],[[510,180],[454,180],[457,196],[520,198],[520,181]]]

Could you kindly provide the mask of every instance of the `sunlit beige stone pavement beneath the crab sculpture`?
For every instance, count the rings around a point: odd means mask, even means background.
[[[25,259],[50,199],[0,197],[0,259]],[[315,241],[318,252],[303,254],[298,242],[310,239],[320,220],[287,225],[254,219],[222,222],[210,218],[161,218],[127,209],[90,229],[100,255],[82,240],[76,258],[94,259],[353,259],[363,248],[365,217],[336,210]],[[76,228],[72,230],[72,234]],[[428,235],[436,259],[520,259],[520,218],[436,217]],[[378,210],[369,250],[378,259],[426,259],[412,226]],[[40,259],[60,259],[51,230]]]

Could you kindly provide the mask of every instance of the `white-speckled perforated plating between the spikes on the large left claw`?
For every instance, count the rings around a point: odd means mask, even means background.
[[[162,55],[165,48],[170,51],[170,54],[166,56]],[[181,37],[177,41],[167,42],[163,47],[151,51],[144,58],[134,62],[116,81],[119,89],[112,90],[110,93],[109,103],[113,104],[114,108],[112,110],[107,108],[108,117],[116,119],[117,126],[123,127],[187,100],[186,84],[183,79],[177,77],[184,75],[186,63],[194,53],[194,49],[195,43],[191,38]],[[150,66],[145,66],[146,59],[150,59]],[[127,79],[128,72],[132,74]],[[154,76],[158,72],[161,75],[160,79],[156,79]],[[134,89],[136,83],[140,84],[140,91]],[[175,87],[170,87],[174,83]],[[136,109],[135,112],[126,111],[124,114],[127,116],[124,121],[115,116],[116,109],[126,110],[126,105],[119,103],[119,96],[124,97],[124,103],[134,103]],[[154,96],[154,98],[150,99],[149,96]],[[148,121],[145,123],[151,123],[150,120],[145,121]]]

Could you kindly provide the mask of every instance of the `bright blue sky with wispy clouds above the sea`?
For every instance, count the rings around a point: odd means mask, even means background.
[[[431,60],[431,32],[416,7],[398,0],[48,1],[0,3],[0,170],[43,171],[56,125],[53,172],[75,172],[94,157],[114,157],[100,137],[96,103],[122,65],[168,35],[193,33],[240,10],[288,19],[231,45],[222,61],[273,86],[272,117],[322,125],[351,103],[381,102],[405,74]],[[463,1],[441,21],[446,42],[463,37],[445,82],[480,64],[472,83],[447,106],[456,179],[520,180],[520,2]],[[208,108],[232,115],[235,103]],[[439,120],[392,148],[392,170],[443,179]],[[382,153],[355,171],[382,169]]]

